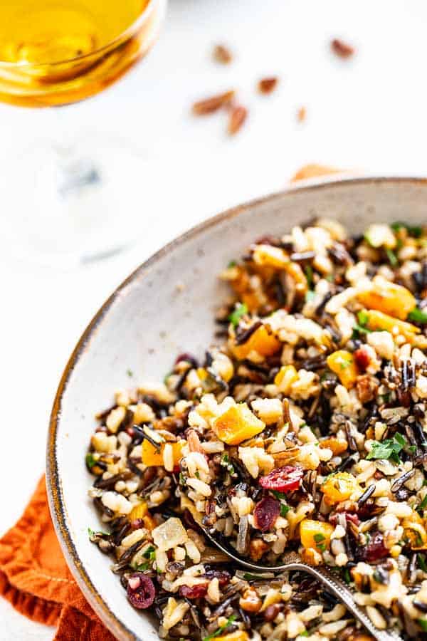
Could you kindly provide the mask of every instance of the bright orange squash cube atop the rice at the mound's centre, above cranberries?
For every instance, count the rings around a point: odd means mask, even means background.
[[[224,443],[238,445],[260,434],[265,428],[265,423],[251,412],[246,403],[239,403],[218,416],[212,428],[218,439]]]

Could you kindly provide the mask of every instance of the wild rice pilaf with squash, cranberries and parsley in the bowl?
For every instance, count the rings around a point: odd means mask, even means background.
[[[322,219],[221,278],[221,347],[98,416],[90,540],[162,638],[369,639],[316,580],[233,567],[200,524],[330,566],[377,627],[426,638],[427,228]]]

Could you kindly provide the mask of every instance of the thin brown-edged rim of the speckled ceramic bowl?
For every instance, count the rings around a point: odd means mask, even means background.
[[[63,375],[60,378],[58,391],[56,392],[56,397],[53,402],[51,419],[49,422],[46,452],[46,486],[48,489],[49,508],[51,510],[53,525],[55,526],[60,546],[63,550],[65,560],[68,563],[71,573],[73,574],[76,582],[83,591],[85,598],[93,607],[97,615],[109,628],[110,632],[112,632],[112,634],[115,635],[115,637],[117,637],[118,639],[122,641],[135,641],[138,637],[134,632],[132,632],[132,630],[130,630],[126,625],[122,623],[120,618],[117,617],[115,613],[110,610],[110,608],[108,608],[107,604],[93,585],[92,580],[90,579],[90,573],[83,566],[78,550],[75,548],[70,535],[70,530],[68,528],[68,517],[65,511],[63,490],[60,483],[60,470],[58,469],[58,461],[56,458],[56,438],[58,434],[58,427],[60,424],[63,395],[65,394],[68,381],[70,380],[70,375],[72,374],[75,365],[78,363],[78,360],[83,355],[83,353],[85,353],[85,350],[88,349],[91,337],[100,328],[102,321],[104,320],[117,296],[122,294],[122,292],[125,290],[125,288],[127,288],[127,286],[130,285],[130,283],[142,276],[144,271],[157,264],[157,262],[162,259],[163,256],[174,250],[174,248],[176,248],[177,246],[181,246],[182,244],[185,244],[186,241],[201,236],[207,229],[220,224],[223,220],[238,217],[243,212],[246,212],[247,209],[252,209],[259,204],[274,202],[276,199],[282,199],[286,196],[292,197],[292,194],[295,194],[295,192],[320,192],[322,191],[322,189],[331,188],[338,190],[340,187],[347,186],[348,184],[367,185],[373,183],[379,185],[384,183],[406,183],[427,187],[427,179],[423,177],[395,175],[347,176],[345,174],[341,174],[337,177],[337,174],[332,174],[331,176],[322,177],[321,179],[309,179],[300,181],[296,184],[292,184],[290,187],[288,187],[288,189],[284,189],[281,192],[270,194],[259,199],[253,199],[249,202],[238,205],[237,207],[227,209],[225,212],[217,214],[216,216],[207,219],[201,224],[192,227],[191,229],[189,229],[189,231],[186,231],[184,234],[181,234],[181,236],[178,236],[176,239],[169,242],[167,245],[162,247],[162,249],[159,249],[159,251],[157,251],[153,256],[147,259],[147,261],[139,265],[139,267],[137,267],[137,269],[135,269],[135,271],[133,271],[130,276],[128,276],[125,281],[123,281],[115,289],[110,298],[105,301],[100,310],[90,321],[88,327],[85,329],[83,335],[75,346],[75,349],[70,355],[68,363],[65,366]]]

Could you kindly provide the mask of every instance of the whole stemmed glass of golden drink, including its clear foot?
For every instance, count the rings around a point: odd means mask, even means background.
[[[0,4],[0,101],[76,103],[115,83],[152,47],[167,0],[14,0]],[[55,110],[63,118],[67,110]],[[54,124],[54,123],[53,123]],[[55,127],[53,127],[55,128]],[[142,157],[110,135],[56,136],[9,159],[0,236],[15,255],[75,266],[135,239]]]

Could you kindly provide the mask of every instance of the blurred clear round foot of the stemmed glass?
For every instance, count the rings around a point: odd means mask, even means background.
[[[1,179],[4,249],[64,268],[127,249],[152,218],[158,175],[150,167],[138,150],[103,138],[22,152]]]

